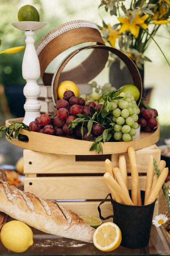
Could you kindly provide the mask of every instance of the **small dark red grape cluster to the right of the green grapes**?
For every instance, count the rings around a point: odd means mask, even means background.
[[[141,130],[145,132],[152,132],[157,127],[158,112],[156,109],[140,108],[138,123],[141,126]]]

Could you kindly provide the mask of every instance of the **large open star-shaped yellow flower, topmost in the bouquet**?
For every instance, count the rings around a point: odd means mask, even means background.
[[[124,31],[130,30],[133,36],[136,38],[139,36],[139,30],[140,27],[147,29],[148,25],[146,25],[145,20],[149,17],[148,14],[144,16],[139,16],[140,11],[137,12],[135,18],[132,20],[132,23],[130,23],[130,17],[128,18],[117,18],[121,23],[121,28],[119,29],[119,34],[121,34]]]

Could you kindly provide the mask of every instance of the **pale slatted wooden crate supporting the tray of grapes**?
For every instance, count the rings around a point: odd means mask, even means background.
[[[24,190],[44,199],[59,200],[79,216],[99,216],[97,206],[109,193],[103,179],[104,160],[109,158],[115,167],[118,166],[119,155],[59,155],[24,149]],[[124,155],[130,187],[130,163],[127,153]],[[156,145],[136,150],[141,190],[145,190],[150,155],[159,162],[160,150]],[[110,201],[102,205],[102,214],[112,214]]]

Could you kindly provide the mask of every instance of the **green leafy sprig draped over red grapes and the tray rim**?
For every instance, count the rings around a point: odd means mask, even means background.
[[[113,110],[112,101],[115,99],[122,99],[123,97],[119,97],[119,90],[115,90],[113,92],[106,92],[102,94],[99,98],[103,100],[103,106],[100,111],[96,110],[95,108],[91,107],[93,112],[93,116],[89,117],[88,115],[78,114],[74,121],[70,121],[68,126],[68,130],[75,128],[77,125],[81,125],[81,134],[83,138],[83,125],[87,122],[87,136],[90,135],[91,129],[94,123],[102,125],[104,131],[102,135],[98,136],[95,139],[95,142],[92,144],[90,151],[96,150],[99,154],[100,152],[103,154],[102,142],[109,141],[112,137],[112,130],[115,123],[108,117],[110,112]],[[93,141],[93,140],[92,140]]]

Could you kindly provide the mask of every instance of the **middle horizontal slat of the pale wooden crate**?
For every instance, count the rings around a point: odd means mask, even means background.
[[[146,177],[140,176],[139,180],[141,190],[145,190]],[[130,188],[131,177],[128,177],[128,182]],[[28,177],[26,175],[24,191],[53,200],[101,200],[110,193],[102,176]]]

